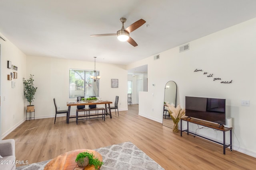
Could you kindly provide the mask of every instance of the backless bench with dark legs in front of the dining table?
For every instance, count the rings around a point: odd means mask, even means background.
[[[99,110],[102,110],[102,114],[99,114]],[[84,111],[84,115],[78,115],[78,112]],[[87,112],[89,111],[89,114]],[[95,111],[95,114],[90,114],[90,111]],[[85,115],[86,112],[86,115]],[[105,121],[105,108],[104,107],[95,107],[91,109],[76,109],[76,124],[78,124],[78,120],[86,120],[86,119],[95,119],[95,118],[101,118],[99,117],[101,115],[102,119]],[[95,117],[97,116],[97,117]],[[78,117],[86,117],[82,119],[78,119]],[[89,117],[89,118],[88,118]]]

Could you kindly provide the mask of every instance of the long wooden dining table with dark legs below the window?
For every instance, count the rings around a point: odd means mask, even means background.
[[[70,108],[71,106],[84,106],[84,105],[98,105],[98,104],[105,104],[105,113],[106,115],[110,116],[110,119],[112,119],[111,115],[111,109],[110,109],[110,104],[113,102],[108,101],[108,100],[99,100],[99,101],[94,101],[94,102],[67,102],[68,106],[68,116],[67,116],[67,123],[69,123],[70,118],[76,118],[76,116],[70,117]],[[108,104],[108,107],[107,107]]]

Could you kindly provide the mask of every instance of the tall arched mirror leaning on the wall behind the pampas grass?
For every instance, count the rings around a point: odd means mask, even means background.
[[[177,94],[177,85],[174,81],[169,81],[164,87],[164,102],[169,104],[174,104],[176,107],[176,94]],[[169,112],[165,109],[163,102],[163,125],[166,127],[173,127],[172,118],[169,116]]]

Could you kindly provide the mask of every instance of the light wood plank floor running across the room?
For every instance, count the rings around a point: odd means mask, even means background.
[[[131,141],[166,170],[253,170],[256,158],[221,145],[173,133],[161,123],[138,115],[138,105],[112,113],[106,121],[91,119],[79,121],[65,117],[25,121],[5,139],[15,139],[16,160],[28,160],[29,164],[52,159],[74,149],[96,149]],[[17,165],[19,166],[19,165]]]

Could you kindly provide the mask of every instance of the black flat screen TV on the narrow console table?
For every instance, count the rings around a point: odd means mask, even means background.
[[[226,125],[226,99],[186,96],[185,115]]]

